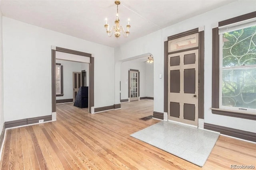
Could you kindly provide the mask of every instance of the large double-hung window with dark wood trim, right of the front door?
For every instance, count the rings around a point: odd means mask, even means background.
[[[212,113],[256,120],[256,12],[212,29]]]

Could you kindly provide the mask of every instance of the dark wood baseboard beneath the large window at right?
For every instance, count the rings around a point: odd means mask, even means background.
[[[247,141],[256,142],[256,133],[253,133],[253,132],[242,131],[239,129],[233,129],[230,127],[213,125],[209,123],[204,123],[204,129],[220,132],[223,135],[228,135],[228,136],[244,139]]]

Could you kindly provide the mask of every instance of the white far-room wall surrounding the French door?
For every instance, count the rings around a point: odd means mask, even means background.
[[[140,97],[146,97],[146,67],[145,63],[137,60],[125,61],[121,64],[121,99],[128,99],[128,70],[140,72]]]

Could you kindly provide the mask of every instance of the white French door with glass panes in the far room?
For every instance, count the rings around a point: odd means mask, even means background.
[[[138,71],[130,71],[130,101],[139,99],[139,72]]]

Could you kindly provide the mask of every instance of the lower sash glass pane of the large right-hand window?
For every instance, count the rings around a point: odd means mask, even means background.
[[[256,109],[256,68],[222,70],[222,106]]]

